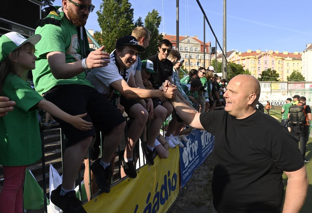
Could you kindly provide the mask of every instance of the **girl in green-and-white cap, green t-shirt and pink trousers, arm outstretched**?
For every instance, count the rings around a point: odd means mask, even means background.
[[[40,35],[26,39],[17,32],[0,37],[0,96],[16,102],[14,111],[0,118],[0,164],[3,165],[3,188],[0,212],[23,212],[22,186],[26,167],[41,158],[41,137],[37,108],[72,124],[78,129],[91,129],[92,123],[72,116],[44,99],[25,80],[27,70],[35,69],[35,44]]]

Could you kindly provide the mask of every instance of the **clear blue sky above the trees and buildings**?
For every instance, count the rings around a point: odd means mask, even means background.
[[[102,0],[93,0],[87,29],[100,31],[96,12]],[[134,21],[144,20],[147,13],[158,10],[163,17],[159,32],[176,35],[175,0],[129,0],[134,8]],[[222,46],[223,1],[200,0],[207,18]],[[302,52],[312,43],[311,0],[227,0],[227,51],[246,52],[248,49]],[[179,1],[179,34],[194,36],[203,41],[203,15],[196,0]],[[144,21],[143,21],[144,22]],[[206,22],[206,42],[215,45],[214,36]],[[219,46],[217,47],[219,49]]]

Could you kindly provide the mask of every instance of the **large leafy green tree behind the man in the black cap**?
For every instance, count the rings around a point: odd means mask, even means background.
[[[95,31],[94,38],[100,45],[105,45],[105,51],[110,53],[115,49],[118,38],[131,35],[134,28],[133,9],[129,0],[102,1],[100,9],[96,11],[102,31]]]

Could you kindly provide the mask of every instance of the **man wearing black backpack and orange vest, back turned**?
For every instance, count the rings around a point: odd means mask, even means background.
[[[300,142],[300,152],[304,162],[306,145],[309,140],[309,120],[312,119],[310,106],[305,105],[306,98],[301,96],[299,103],[289,107],[288,119],[291,127],[291,134]]]

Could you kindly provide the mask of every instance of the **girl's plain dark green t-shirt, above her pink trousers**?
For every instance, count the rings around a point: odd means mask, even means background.
[[[44,98],[11,73],[4,79],[3,95],[16,105],[12,112],[0,118],[0,164],[32,164],[42,156],[36,104]]]

